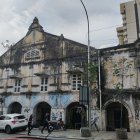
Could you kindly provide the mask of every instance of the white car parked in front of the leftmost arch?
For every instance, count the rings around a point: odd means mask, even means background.
[[[13,130],[26,130],[28,120],[22,114],[0,115],[0,130],[10,134]]]

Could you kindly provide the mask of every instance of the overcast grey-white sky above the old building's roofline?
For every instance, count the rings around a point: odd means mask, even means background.
[[[116,27],[122,25],[120,3],[128,0],[83,0],[90,22],[90,45],[118,44]],[[87,44],[87,19],[80,0],[0,0],[0,43],[23,38],[36,16],[45,32]],[[0,46],[0,54],[5,49]]]

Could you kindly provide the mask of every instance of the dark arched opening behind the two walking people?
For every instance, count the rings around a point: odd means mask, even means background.
[[[51,106],[48,103],[41,102],[35,106],[33,114],[35,119],[34,123],[37,127],[43,125],[43,119],[46,113],[51,113]]]

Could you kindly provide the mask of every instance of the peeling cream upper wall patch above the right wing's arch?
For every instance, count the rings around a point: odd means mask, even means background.
[[[124,89],[135,89],[136,88],[136,69],[135,69],[135,58],[129,57],[129,51],[122,52],[121,54],[117,51],[114,54],[109,55],[108,58],[103,60],[103,67],[106,71],[106,88],[114,88],[118,82],[122,82],[121,77],[113,75],[115,66],[122,69],[120,73],[123,73]],[[121,60],[125,59],[124,66],[121,64]],[[131,65],[128,70],[128,65]],[[123,67],[123,68],[122,68]]]

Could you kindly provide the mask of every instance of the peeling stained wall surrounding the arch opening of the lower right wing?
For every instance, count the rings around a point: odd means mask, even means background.
[[[128,111],[130,131],[140,130],[139,42],[102,50],[103,130],[106,130],[106,109],[111,103],[121,103]],[[120,95],[119,95],[120,93]]]

